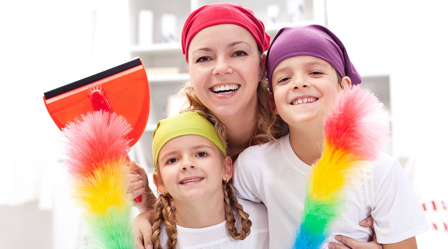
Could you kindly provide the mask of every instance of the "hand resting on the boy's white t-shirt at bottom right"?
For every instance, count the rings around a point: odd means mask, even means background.
[[[364,228],[370,228],[373,232],[373,238],[371,242],[362,242],[362,241],[356,241],[351,238],[342,236],[342,235],[336,235],[335,239],[336,241],[344,244],[340,245],[337,243],[330,243],[328,245],[328,248],[330,249],[382,249],[383,245],[379,244],[376,241],[376,234],[375,229],[373,228],[373,218],[372,216],[367,217],[365,220],[361,221],[359,223],[361,227]]]

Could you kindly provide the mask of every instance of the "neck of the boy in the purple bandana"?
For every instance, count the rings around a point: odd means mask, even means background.
[[[297,157],[311,166],[321,158],[324,146],[324,133],[322,125],[310,127],[312,128],[304,129],[290,126],[289,141]]]

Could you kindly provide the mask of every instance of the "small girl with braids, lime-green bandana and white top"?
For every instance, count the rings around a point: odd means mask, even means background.
[[[159,121],[152,154],[154,184],[162,193],[154,248],[267,248],[266,207],[235,197],[225,143],[203,115]]]

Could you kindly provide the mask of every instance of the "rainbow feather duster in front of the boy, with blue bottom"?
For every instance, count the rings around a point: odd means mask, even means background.
[[[367,89],[343,90],[325,119],[322,156],[312,165],[302,223],[293,248],[318,249],[345,203],[344,191],[365,177],[390,133],[384,105]]]

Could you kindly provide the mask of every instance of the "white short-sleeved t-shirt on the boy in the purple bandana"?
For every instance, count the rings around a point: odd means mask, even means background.
[[[294,153],[289,134],[279,143],[268,142],[246,148],[233,169],[237,196],[262,202],[269,219],[270,248],[290,248],[300,226],[308,175],[311,167]],[[357,191],[350,190],[340,218],[324,243],[336,242],[335,235],[367,241],[372,231],[358,223],[372,215],[379,243],[390,244],[429,229],[423,210],[401,165],[380,153],[369,180]]]

